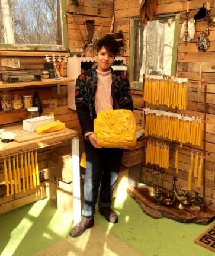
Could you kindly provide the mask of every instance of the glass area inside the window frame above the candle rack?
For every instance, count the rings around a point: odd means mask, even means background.
[[[135,24],[133,81],[143,81],[143,74],[171,75],[175,18],[149,21],[144,28]]]

